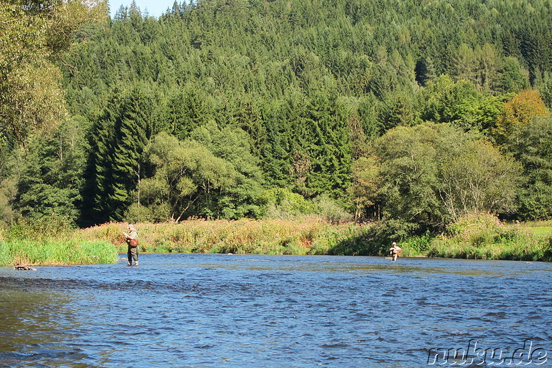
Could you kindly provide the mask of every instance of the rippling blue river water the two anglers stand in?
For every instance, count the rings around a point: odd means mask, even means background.
[[[551,281],[548,263],[426,258],[3,267],[0,367],[552,367]]]

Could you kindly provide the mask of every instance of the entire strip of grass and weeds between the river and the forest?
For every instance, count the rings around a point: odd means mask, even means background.
[[[439,234],[408,236],[392,222],[331,224],[317,217],[297,220],[186,220],[136,225],[140,251],[150,253],[242,253],[293,255],[387,255],[391,242],[402,256],[552,261],[550,223],[506,224],[481,213],[460,218]],[[17,229],[0,233],[0,264],[99,264],[126,253],[125,223],[88,229],[47,229],[34,238]],[[55,235],[52,235],[55,234]]]

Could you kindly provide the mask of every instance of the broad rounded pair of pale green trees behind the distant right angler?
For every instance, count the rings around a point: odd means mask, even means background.
[[[449,125],[389,130],[375,140],[365,165],[357,170],[372,174],[355,183],[359,201],[378,202],[386,216],[420,230],[439,229],[470,212],[515,209],[519,165]]]

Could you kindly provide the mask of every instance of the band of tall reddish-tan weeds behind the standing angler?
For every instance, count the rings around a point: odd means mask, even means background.
[[[344,242],[362,242],[366,226],[331,224],[318,217],[300,220],[186,220],[136,224],[140,250],[165,253],[329,254]],[[125,224],[110,223],[81,231],[88,240],[105,240],[126,252]],[[361,246],[362,244],[357,244]]]

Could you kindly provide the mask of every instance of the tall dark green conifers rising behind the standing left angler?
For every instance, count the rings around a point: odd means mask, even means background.
[[[92,128],[92,151],[83,194],[84,217],[91,222],[121,220],[141,177],[141,155],[152,129],[153,101],[148,90],[114,91]]]

